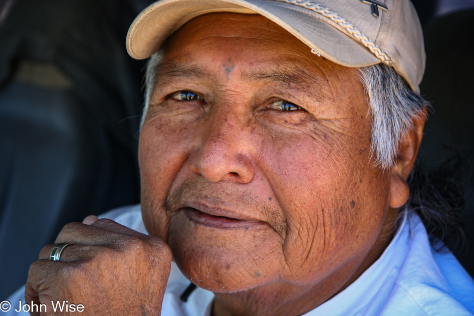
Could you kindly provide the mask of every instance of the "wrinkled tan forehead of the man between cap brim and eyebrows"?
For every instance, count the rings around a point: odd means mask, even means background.
[[[320,85],[321,80],[329,82],[328,76],[345,81],[348,74],[354,74],[351,68],[317,56],[284,28],[259,14],[219,12],[198,16],[173,33],[163,49],[165,64],[171,69],[177,64],[194,65],[192,70],[199,75],[205,74],[207,67],[229,70],[237,66],[243,79],[271,76],[288,83],[316,81]],[[183,71],[177,69],[175,73]]]

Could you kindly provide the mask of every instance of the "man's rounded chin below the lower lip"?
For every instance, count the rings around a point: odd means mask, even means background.
[[[176,227],[178,228],[178,227]],[[215,293],[249,290],[279,280],[280,252],[267,231],[208,232],[196,227],[170,226],[168,245],[183,275]],[[265,242],[265,240],[267,242]],[[273,250],[273,251],[272,251]]]

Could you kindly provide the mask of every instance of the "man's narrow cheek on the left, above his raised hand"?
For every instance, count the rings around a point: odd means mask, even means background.
[[[142,215],[150,235],[166,242],[169,218],[165,202],[175,175],[187,161],[193,133],[186,125],[155,118],[143,125],[138,159]]]

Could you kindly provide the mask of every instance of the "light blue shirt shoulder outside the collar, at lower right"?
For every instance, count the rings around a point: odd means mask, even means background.
[[[474,315],[474,282],[454,255],[436,252],[420,218],[409,215],[408,252],[383,315]],[[389,312],[390,311],[390,312]]]

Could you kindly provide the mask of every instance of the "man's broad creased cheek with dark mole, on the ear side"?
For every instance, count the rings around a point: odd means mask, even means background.
[[[298,267],[293,277],[314,279],[373,246],[389,178],[369,160],[368,128],[350,137],[329,130],[306,136],[269,142],[262,153],[273,157],[266,173],[274,175],[270,183],[288,223],[287,266]]]

